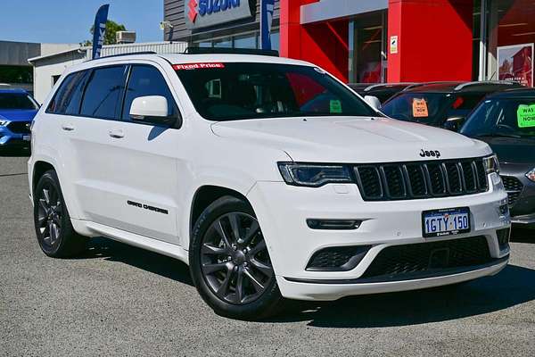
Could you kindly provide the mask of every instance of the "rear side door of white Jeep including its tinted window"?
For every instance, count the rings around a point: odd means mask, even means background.
[[[61,124],[65,170],[70,173],[78,218],[111,227],[118,226],[110,213],[120,190],[112,177],[116,163],[108,131],[110,122],[119,118],[127,70],[127,65],[111,65],[87,71],[76,115],[62,117]]]

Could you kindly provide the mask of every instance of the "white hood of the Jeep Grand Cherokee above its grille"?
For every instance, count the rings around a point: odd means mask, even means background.
[[[295,162],[403,162],[490,154],[480,141],[444,129],[387,118],[313,117],[235,120],[212,125],[219,137],[279,148]]]

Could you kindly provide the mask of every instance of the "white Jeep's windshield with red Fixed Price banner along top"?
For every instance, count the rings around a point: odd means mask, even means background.
[[[233,62],[174,68],[195,109],[208,120],[379,115],[314,67]]]

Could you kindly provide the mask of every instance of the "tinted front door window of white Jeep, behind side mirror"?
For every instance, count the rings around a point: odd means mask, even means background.
[[[168,84],[155,67],[135,65],[128,79],[127,95],[122,110],[122,119],[130,120],[130,106],[134,99],[145,95],[161,95],[168,100],[168,112],[171,116],[177,116],[178,109],[175,99],[169,90]]]

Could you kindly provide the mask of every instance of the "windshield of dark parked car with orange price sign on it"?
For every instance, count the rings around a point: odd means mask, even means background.
[[[399,120],[435,124],[440,122],[440,114],[449,104],[449,96],[444,93],[401,94],[384,104],[381,112]]]

